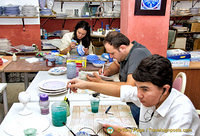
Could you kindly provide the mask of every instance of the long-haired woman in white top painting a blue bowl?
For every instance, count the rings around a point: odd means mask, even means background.
[[[90,41],[90,25],[86,21],[80,21],[75,26],[74,32],[66,33],[61,39],[60,53],[70,52],[70,54],[76,55],[78,54],[76,47],[81,44],[84,46],[85,54],[89,54]]]

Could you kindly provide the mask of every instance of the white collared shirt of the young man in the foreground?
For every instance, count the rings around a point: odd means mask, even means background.
[[[183,93],[172,89],[166,100],[155,110],[145,107],[137,97],[137,87],[122,85],[120,98],[124,102],[133,102],[140,106],[139,130],[143,136],[200,136],[200,119],[190,101]],[[148,115],[149,114],[149,115]]]

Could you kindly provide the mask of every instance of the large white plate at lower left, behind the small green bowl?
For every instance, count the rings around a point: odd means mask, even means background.
[[[20,116],[12,120],[8,126],[4,128],[7,134],[11,136],[24,136],[24,130],[28,128],[37,129],[37,134],[44,132],[49,128],[50,121],[48,118],[42,116]]]

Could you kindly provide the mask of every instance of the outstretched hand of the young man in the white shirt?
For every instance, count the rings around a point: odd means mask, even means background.
[[[74,78],[67,83],[67,89],[70,88],[73,92],[77,92],[77,89],[86,89],[87,81]]]

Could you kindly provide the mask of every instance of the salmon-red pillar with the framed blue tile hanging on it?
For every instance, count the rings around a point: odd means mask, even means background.
[[[121,1],[121,32],[145,45],[152,54],[166,56],[171,0],[165,16],[135,16],[135,0]]]

